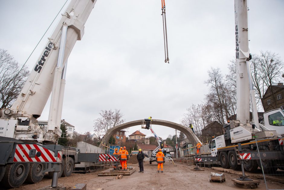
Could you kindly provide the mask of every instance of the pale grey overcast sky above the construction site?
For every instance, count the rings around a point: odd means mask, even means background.
[[[68,0],[69,2],[70,0]],[[66,3],[65,7],[67,6]],[[0,48],[23,64],[65,0],[0,0]],[[98,0],[68,59],[62,119],[93,132],[100,110],[120,109],[125,122],[152,116],[179,123],[186,108],[202,103],[207,71],[234,59],[234,1],[166,0],[170,63],[164,62],[160,0]],[[249,0],[250,53],[284,58],[284,1]],[[65,8],[61,11],[64,12]],[[33,68],[57,24],[27,66]],[[39,118],[47,120],[49,102]],[[153,126],[162,138],[175,130]],[[129,128],[127,135],[140,129]]]

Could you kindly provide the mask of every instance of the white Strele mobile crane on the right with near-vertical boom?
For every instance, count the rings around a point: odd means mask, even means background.
[[[264,172],[275,172],[283,168],[284,159],[283,139],[284,113],[281,109],[271,110],[264,114],[265,125],[259,124],[255,94],[250,73],[251,58],[248,48],[248,17],[247,1],[235,0],[235,43],[237,59],[237,120],[224,125],[224,135],[214,138],[210,144],[211,156],[197,155],[202,162],[218,161],[223,168],[240,168],[254,171],[263,166]],[[252,101],[253,121],[250,123],[249,105]],[[280,117],[281,126],[273,124],[273,120]],[[278,134],[277,134],[278,133]],[[254,139],[261,139],[257,143]],[[257,151],[259,147],[260,153]],[[242,155],[248,155],[243,157]],[[261,158],[261,162],[260,162]],[[244,161],[245,160],[245,161]],[[243,172],[244,175],[244,172]]]

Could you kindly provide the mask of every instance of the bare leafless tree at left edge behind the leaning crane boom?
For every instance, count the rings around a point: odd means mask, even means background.
[[[9,108],[18,97],[29,75],[27,67],[20,68],[7,50],[0,49],[0,103]]]

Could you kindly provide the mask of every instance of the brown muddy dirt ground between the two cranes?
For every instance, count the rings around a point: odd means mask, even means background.
[[[164,164],[164,173],[157,173],[157,163],[149,164],[144,162],[144,173],[138,173],[138,164],[131,164],[136,167],[136,171],[129,176],[123,176],[122,179],[115,179],[116,176],[98,176],[98,172],[86,174],[72,174],[70,177],[59,178],[58,184],[63,184],[67,189],[72,188],[77,183],[86,183],[87,189],[103,188],[104,190],[114,189],[244,189],[234,185],[231,178],[238,178],[238,175],[224,173],[226,182],[217,183],[209,182],[211,172],[221,173],[211,168],[202,168],[205,171],[193,172],[190,169],[193,165],[184,165],[176,163],[169,164],[168,161]],[[266,189],[265,183],[262,179],[257,189]],[[284,184],[278,182],[268,182],[269,189],[283,189]],[[37,184],[23,184],[14,190],[33,190],[51,185],[51,179],[44,178]]]

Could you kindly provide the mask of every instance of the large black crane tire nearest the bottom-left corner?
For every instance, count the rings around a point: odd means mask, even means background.
[[[6,171],[2,180],[2,185],[7,188],[21,186],[30,171],[29,163],[14,163],[6,166]]]

